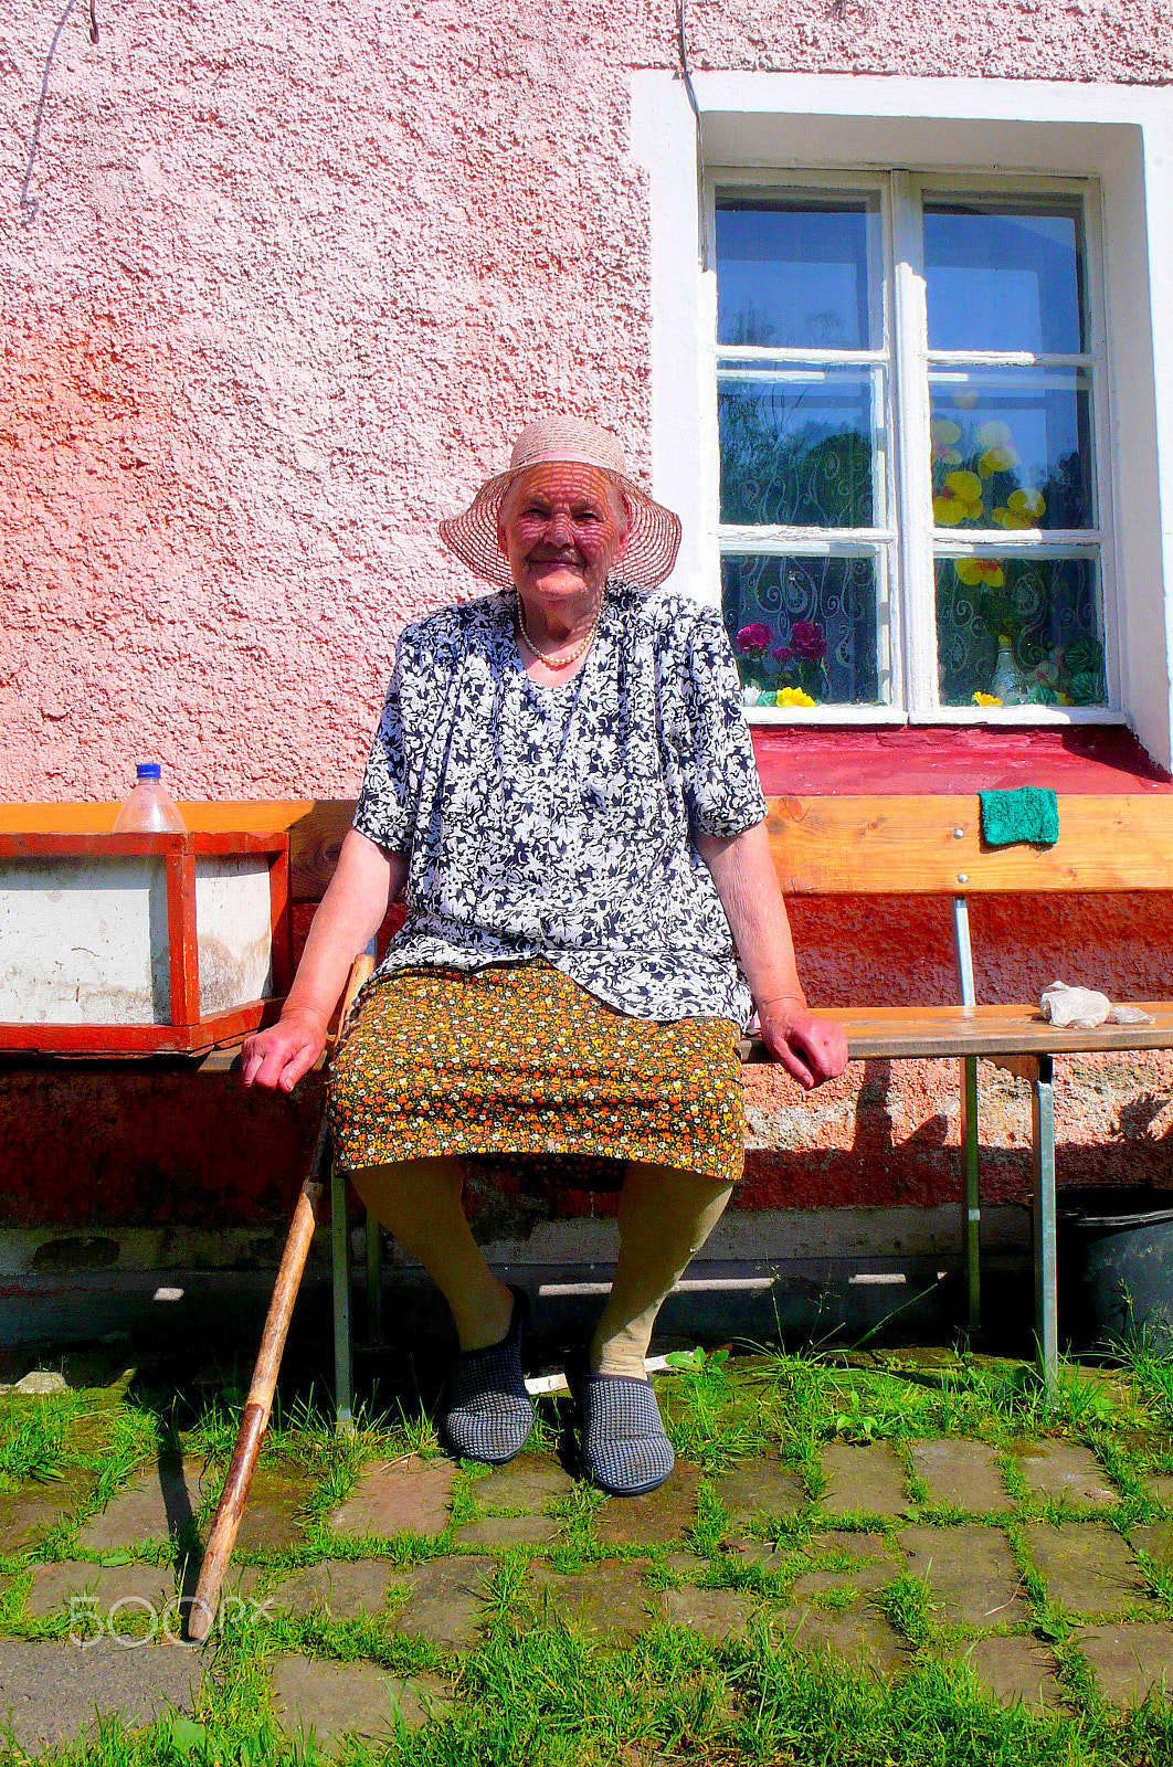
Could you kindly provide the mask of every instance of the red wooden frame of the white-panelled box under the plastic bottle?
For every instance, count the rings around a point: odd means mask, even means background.
[[[196,859],[263,853],[270,857],[274,995],[228,1012],[200,1016],[196,929]],[[163,859],[171,959],[170,1025],[2,1025],[0,1050],[46,1055],[200,1055],[217,1043],[247,1035],[281,1011],[293,974],[288,832],[254,834],[0,834],[0,859]]]

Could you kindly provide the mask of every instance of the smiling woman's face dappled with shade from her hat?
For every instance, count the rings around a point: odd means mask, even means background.
[[[526,601],[551,608],[597,601],[608,573],[627,551],[627,511],[595,466],[532,466],[509,488],[496,544]]]

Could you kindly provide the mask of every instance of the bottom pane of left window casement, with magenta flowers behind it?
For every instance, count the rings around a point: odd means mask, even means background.
[[[777,703],[779,689],[830,705],[880,700],[874,558],[726,555],[721,585],[724,624],[751,705]]]

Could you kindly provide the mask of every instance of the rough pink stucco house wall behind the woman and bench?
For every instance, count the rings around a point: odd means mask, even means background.
[[[511,433],[546,405],[601,415],[647,470],[629,87],[677,65],[675,5],[95,4],[97,44],[85,4],[60,34],[30,166],[64,0],[0,0],[0,797],[118,797],[143,756],[178,797],[352,795],[399,626],[475,588],[436,519]],[[1171,27],[1147,0],[689,5],[701,69],[1154,83]],[[880,942],[874,919],[797,919],[825,1000],[903,997],[924,958],[896,910]],[[1097,963],[1101,926],[1063,949]],[[1120,931],[1120,975],[1161,972],[1164,922],[1139,956]],[[860,1078],[802,1122],[754,1078],[747,1200],[949,1191],[952,1071]],[[1161,1060],[1076,1081],[1060,1133],[1115,1175],[1122,1138],[1168,1134],[1143,1103]],[[1019,1145],[1016,1113],[993,1143]],[[1019,1156],[1000,1170],[1021,1189]],[[41,1217],[74,1207],[46,1194]]]

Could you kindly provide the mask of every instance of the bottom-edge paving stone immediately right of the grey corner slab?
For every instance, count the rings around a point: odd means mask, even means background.
[[[302,1656],[274,1659],[270,1672],[277,1728],[288,1742],[309,1740],[327,1755],[343,1753],[346,1737],[387,1742],[396,1714],[419,1730],[452,1705],[438,1675],[392,1675],[378,1663],[323,1663]]]

